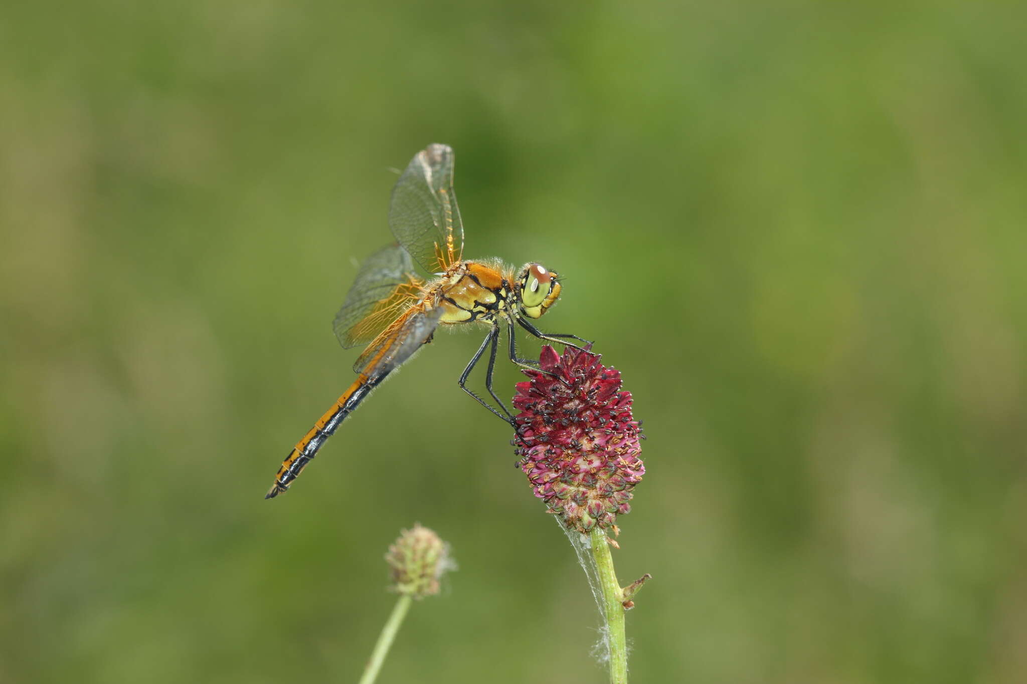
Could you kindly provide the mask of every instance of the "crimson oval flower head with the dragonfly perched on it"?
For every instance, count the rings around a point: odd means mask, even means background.
[[[524,370],[531,379],[518,383],[514,397],[521,470],[549,513],[579,532],[610,527],[631,511],[632,489],[645,475],[632,393],[600,358],[542,347],[540,370]]]

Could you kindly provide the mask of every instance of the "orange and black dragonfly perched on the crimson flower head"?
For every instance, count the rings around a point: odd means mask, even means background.
[[[492,389],[501,327],[506,326],[509,360],[526,368],[537,368],[537,363],[518,356],[515,325],[539,339],[570,347],[577,346],[569,339],[587,344],[573,334],[546,334],[533,323],[560,297],[556,271],[537,263],[515,271],[494,258],[463,258],[453,160],[449,146],[429,145],[414,156],[396,182],[388,223],[397,244],[375,252],[363,264],[333,325],[343,349],[366,345],[353,364],[356,379],[289,452],[265,498],[288,490],[342,421],[392,371],[431,341],[440,326],[488,327],[458,384],[511,426],[516,425],[514,415]],[[428,275],[418,275],[415,263]],[[466,385],[486,350],[485,387],[498,409]]]

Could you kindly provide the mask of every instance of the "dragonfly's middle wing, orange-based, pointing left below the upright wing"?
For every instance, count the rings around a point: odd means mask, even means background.
[[[417,301],[424,281],[406,249],[391,245],[368,257],[332,324],[343,349],[366,345]]]

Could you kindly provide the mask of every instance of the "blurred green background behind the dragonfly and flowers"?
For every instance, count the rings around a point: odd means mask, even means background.
[[[637,682],[1022,682],[1023,4],[0,10],[0,681],[601,682],[564,535],[442,334],[286,496],[395,175],[566,275],[645,420]],[[532,353],[537,346],[527,347]],[[498,387],[512,394],[504,364]],[[502,389],[505,388],[505,389]]]

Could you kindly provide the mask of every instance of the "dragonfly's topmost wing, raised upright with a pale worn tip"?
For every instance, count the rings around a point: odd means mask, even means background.
[[[388,224],[427,273],[460,260],[463,224],[453,192],[452,148],[429,145],[414,156],[392,190]]]

